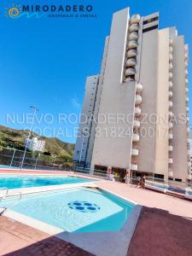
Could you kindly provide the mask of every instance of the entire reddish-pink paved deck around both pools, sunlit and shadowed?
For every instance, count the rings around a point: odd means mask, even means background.
[[[37,171],[7,171],[0,173],[50,174]],[[73,172],[51,172],[54,175],[73,175]],[[76,175],[87,177],[86,175]],[[189,256],[192,255],[192,202],[138,189],[135,185],[97,180],[100,189],[108,190],[143,206],[127,252],[128,256]],[[115,237],[114,237],[115,239]],[[128,238],[127,238],[128,243]],[[6,217],[0,218],[0,255],[91,255],[67,241],[35,230]],[[106,255],[103,253],[103,255]],[[119,253],[119,256],[121,254]]]

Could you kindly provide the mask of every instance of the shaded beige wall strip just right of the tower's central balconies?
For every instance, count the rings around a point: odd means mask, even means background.
[[[155,122],[157,102],[157,65],[158,65],[158,30],[143,33],[141,53],[140,82],[143,84],[141,104],[142,123],[140,128],[140,141],[138,143],[139,156],[137,160],[138,171],[154,172],[155,159]]]

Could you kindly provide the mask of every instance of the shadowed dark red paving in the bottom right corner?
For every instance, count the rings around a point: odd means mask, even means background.
[[[127,256],[191,256],[192,220],[143,207]]]

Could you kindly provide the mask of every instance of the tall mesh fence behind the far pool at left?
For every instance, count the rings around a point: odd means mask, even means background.
[[[23,160],[24,151],[13,148],[1,148],[0,166],[19,169]],[[55,156],[39,152],[26,151],[23,169],[73,171],[73,162],[58,160]]]

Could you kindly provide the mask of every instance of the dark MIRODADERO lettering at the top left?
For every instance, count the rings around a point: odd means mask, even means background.
[[[23,5],[22,12],[91,12],[92,5]]]

